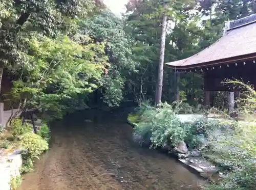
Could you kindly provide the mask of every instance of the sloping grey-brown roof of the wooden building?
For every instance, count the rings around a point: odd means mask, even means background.
[[[245,59],[253,53],[256,57],[256,22],[227,31],[217,42],[194,56],[165,64],[171,68],[189,69],[221,64],[238,57]]]

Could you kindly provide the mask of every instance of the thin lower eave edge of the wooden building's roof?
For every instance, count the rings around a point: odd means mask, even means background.
[[[209,66],[220,65],[220,64],[230,64],[230,63],[236,63],[236,62],[240,62],[240,61],[248,61],[248,60],[253,60],[253,59],[256,60],[256,52],[249,53],[249,54],[242,55],[242,56],[236,56],[236,57],[232,57],[232,58],[226,58],[226,59],[221,59],[221,60],[215,60],[215,61],[204,62],[204,63],[196,63],[196,64],[184,65],[184,66],[172,65],[173,62],[165,63],[165,64],[167,65],[167,67],[170,67],[172,69],[185,70],[185,69],[196,69],[196,68],[200,68],[200,67],[209,67]]]

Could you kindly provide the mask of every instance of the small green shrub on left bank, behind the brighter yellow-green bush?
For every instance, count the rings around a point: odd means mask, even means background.
[[[14,119],[10,126],[10,131],[14,137],[24,134],[26,132],[30,132],[31,130],[32,128],[28,124],[25,123],[24,125],[22,125],[21,119]]]

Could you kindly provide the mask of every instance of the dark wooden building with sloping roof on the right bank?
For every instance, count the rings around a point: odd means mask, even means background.
[[[179,72],[204,74],[205,104],[210,104],[211,91],[229,92],[229,109],[233,109],[234,94],[239,91],[223,83],[224,79],[239,79],[256,89],[256,14],[225,23],[223,36],[194,56],[166,65]],[[237,93],[236,93],[237,92]]]

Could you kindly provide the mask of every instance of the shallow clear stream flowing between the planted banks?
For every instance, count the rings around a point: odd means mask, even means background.
[[[132,142],[121,113],[77,113],[52,125],[50,150],[19,190],[183,190],[203,181],[175,159]],[[90,119],[91,121],[89,121]]]

